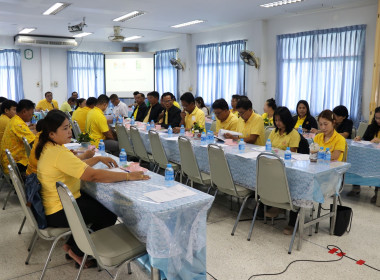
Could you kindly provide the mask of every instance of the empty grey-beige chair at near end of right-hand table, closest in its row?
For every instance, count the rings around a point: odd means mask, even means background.
[[[253,226],[260,203],[285,210],[296,211],[290,197],[288,179],[286,177],[284,162],[272,153],[261,153],[256,160],[256,192],[257,201],[252,224],[247,240],[251,240]],[[288,253],[292,253],[293,243],[299,222],[299,213],[293,230]]]

